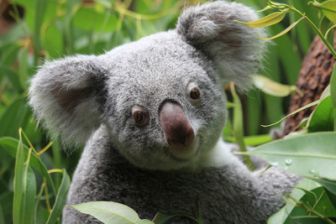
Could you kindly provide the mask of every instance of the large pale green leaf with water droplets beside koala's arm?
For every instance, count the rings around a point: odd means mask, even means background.
[[[336,179],[335,139],[334,132],[306,134],[258,146],[248,154],[298,175]]]

